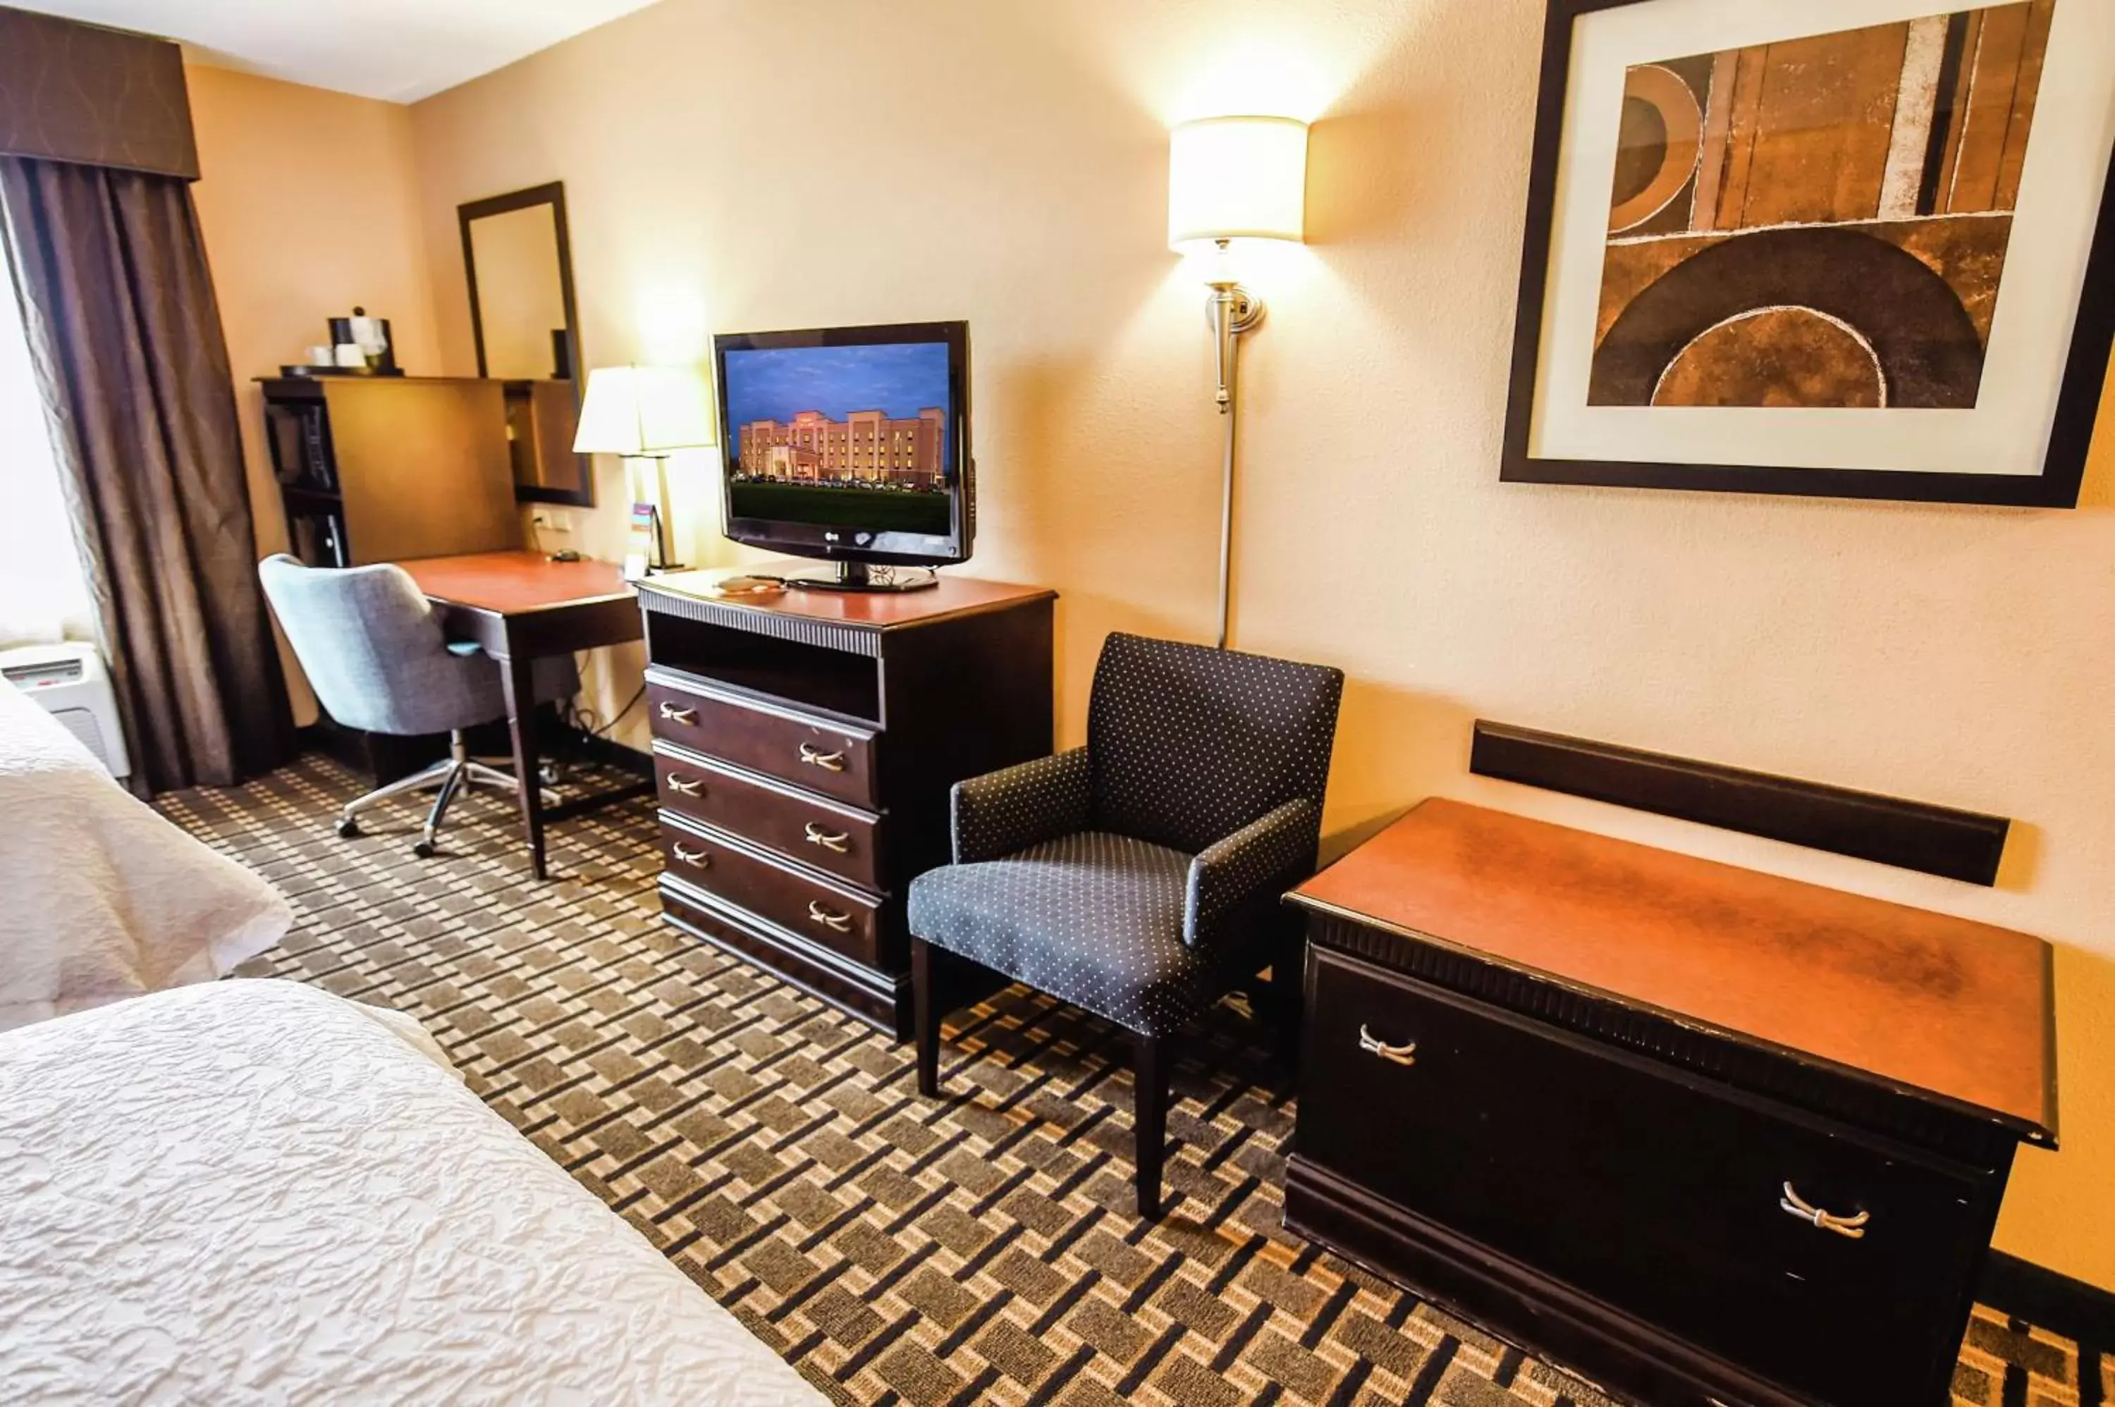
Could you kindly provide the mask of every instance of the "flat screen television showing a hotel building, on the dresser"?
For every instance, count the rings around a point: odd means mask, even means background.
[[[871,567],[969,561],[969,324],[713,339],[725,533],[835,563],[799,586],[905,588]]]

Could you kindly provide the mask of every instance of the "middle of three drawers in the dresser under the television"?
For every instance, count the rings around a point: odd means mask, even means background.
[[[880,817],[736,772],[711,757],[673,751],[666,743],[654,749],[654,774],[664,808],[854,884],[882,889]]]

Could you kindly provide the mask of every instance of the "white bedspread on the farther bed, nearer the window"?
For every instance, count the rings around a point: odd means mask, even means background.
[[[292,918],[0,683],[0,1030],[220,977]]]

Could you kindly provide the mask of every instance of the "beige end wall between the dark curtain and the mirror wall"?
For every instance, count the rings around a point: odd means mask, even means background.
[[[235,366],[258,552],[269,554],[286,548],[286,518],[252,377],[305,360],[330,341],[328,319],[355,305],[389,319],[400,366],[438,370],[410,110],[224,68],[184,76],[203,167],[192,193]],[[296,717],[313,721],[315,700],[286,660]]]

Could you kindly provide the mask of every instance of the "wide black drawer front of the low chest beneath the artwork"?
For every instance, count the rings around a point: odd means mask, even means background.
[[[1819,1401],[1901,1401],[1956,1352],[1935,1327],[1990,1227],[1967,1170],[1309,961],[1303,1159]]]

